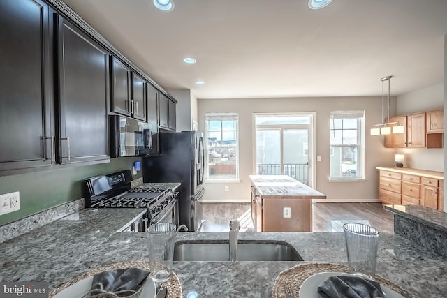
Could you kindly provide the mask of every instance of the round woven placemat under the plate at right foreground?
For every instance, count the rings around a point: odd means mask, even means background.
[[[272,297],[273,298],[286,298],[286,285],[288,285],[291,290],[293,290],[294,296],[299,297],[300,286],[303,281],[309,276],[312,276],[321,272],[346,272],[349,273],[348,267],[344,265],[331,264],[331,263],[308,263],[302,265],[296,265],[290,269],[282,271],[277,279],[274,281]],[[397,292],[402,291],[399,285],[392,283],[391,281],[381,278],[376,275],[376,281],[386,285],[391,290]],[[307,297],[301,297],[307,298]]]

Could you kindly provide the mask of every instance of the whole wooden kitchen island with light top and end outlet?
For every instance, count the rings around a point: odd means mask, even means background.
[[[251,175],[256,232],[312,232],[312,200],[326,196],[286,175]]]

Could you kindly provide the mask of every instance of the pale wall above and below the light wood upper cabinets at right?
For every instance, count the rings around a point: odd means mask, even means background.
[[[436,84],[397,96],[397,114],[439,110],[444,106],[444,84]],[[444,149],[396,149],[405,154],[404,167],[444,172]]]

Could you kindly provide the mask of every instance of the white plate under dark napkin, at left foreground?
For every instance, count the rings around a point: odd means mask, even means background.
[[[82,281],[78,281],[78,283],[73,283],[73,285],[61,290],[61,292],[57,293],[53,296],[53,298],[81,298],[89,290],[91,289],[91,282],[93,281],[93,276],[89,276],[87,278],[82,279]],[[140,293],[140,297],[152,298],[155,297],[156,287],[154,280],[147,276],[145,284],[142,286],[142,290]],[[133,295],[131,297],[137,297]]]

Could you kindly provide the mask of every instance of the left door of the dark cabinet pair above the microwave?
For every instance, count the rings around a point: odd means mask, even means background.
[[[131,69],[112,57],[112,112],[131,116]]]

